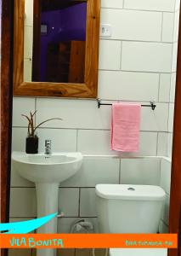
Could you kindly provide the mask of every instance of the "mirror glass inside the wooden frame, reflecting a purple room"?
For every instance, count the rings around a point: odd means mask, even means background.
[[[87,0],[33,2],[25,1],[24,81],[83,84]]]

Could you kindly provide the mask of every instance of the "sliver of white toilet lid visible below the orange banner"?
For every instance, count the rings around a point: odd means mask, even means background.
[[[110,256],[167,256],[167,249],[110,249]]]

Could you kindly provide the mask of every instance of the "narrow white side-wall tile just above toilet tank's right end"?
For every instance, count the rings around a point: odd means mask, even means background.
[[[161,160],[161,188],[170,195],[171,184],[171,161]]]

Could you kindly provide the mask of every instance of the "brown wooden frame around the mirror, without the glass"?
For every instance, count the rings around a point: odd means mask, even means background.
[[[97,97],[100,0],[87,2],[85,83],[66,84],[24,81],[25,0],[14,0],[14,96]]]

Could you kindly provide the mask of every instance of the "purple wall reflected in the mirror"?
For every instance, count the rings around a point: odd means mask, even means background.
[[[87,3],[76,4],[67,9],[42,13],[42,24],[48,25],[48,35],[41,36],[40,81],[45,81],[47,49],[49,43],[61,41],[85,41]]]

